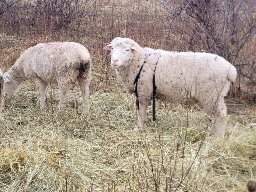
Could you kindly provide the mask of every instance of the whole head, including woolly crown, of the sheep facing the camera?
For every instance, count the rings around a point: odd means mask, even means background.
[[[138,53],[135,44],[131,39],[117,37],[105,46],[103,49],[111,51],[111,66],[118,68],[121,65],[127,65]]]

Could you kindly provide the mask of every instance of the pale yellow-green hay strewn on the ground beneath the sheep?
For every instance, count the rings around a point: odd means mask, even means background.
[[[253,108],[229,111],[228,134],[220,140],[205,132],[212,119],[197,105],[158,103],[158,121],[135,134],[134,97],[121,89],[94,92],[90,116],[83,117],[74,90],[64,113],[57,110],[56,87],[48,89],[45,111],[35,104],[31,83],[6,101],[1,191],[241,192],[256,178]]]

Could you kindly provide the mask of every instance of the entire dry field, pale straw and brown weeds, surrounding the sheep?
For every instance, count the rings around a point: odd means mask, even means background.
[[[226,98],[223,140],[209,134],[213,119],[201,106],[174,102],[157,102],[156,122],[149,108],[146,131],[133,133],[135,96],[127,95],[117,82],[103,46],[116,36],[177,51],[201,51],[202,42],[188,44],[189,32],[181,38],[182,31],[172,31],[161,1],[44,2],[21,0],[0,15],[0,67],[7,71],[23,50],[39,42],[85,45],[92,57],[90,115],[81,114],[77,83],[64,113],[57,110],[56,86],[48,88],[42,111],[36,105],[37,88],[24,83],[5,100],[0,114],[1,192],[247,191],[247,182],[256,180],[256,86],[250,79],[239,75]],[[61,17],[50,2],[72,2],[78,12]],[[72,14],[69,22],[67,15]],[[252,38],[233,63],[252,63],[237,67],[252,79],[255,44]]]

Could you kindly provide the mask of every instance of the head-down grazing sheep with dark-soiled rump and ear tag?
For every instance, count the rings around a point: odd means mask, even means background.
[[[37,103],[43,108],[48,84],[58,84],[61,92],[59,109],[64,110],[69,99],[71,83],[77,79],[83,95],[84,114],[88,114],[90,63],[88,50],[79,43],[40,43],[24,51],[4,74],[4,92],[9,96],[13,95],[19,85],[29,79],[39,89]]]

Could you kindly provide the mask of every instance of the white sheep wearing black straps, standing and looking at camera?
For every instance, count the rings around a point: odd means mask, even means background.
[[[224,96],[237,76],[235,67],[224,58],[210,53],[142,48],[135,41],[121,37],[113,39],[104,49],[111,50],[111,65],[126,91],[132,94],[134,84],[137,85],[139,117],[134,131],[143,128],[143,122],[147,120],[146,110],[152,99],[154,78],[157,98],[200,102],[204,111],[215,119],[211,132],[223,138]]]

